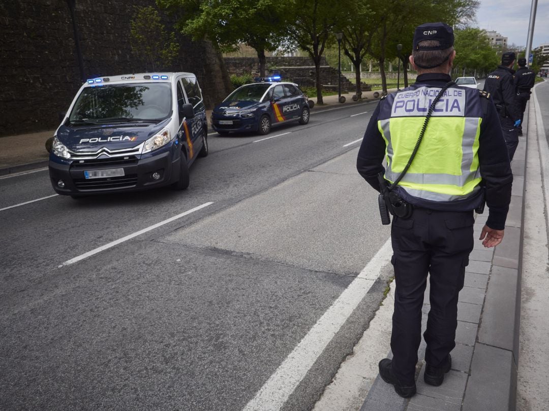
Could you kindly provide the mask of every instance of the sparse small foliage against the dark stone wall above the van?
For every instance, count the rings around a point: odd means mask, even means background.
[[[163,70],[177,58],[179,44],[175,33],[166,32],[154,7],[135,7],[130,22],[132,53],[142,58],[147,71]]]

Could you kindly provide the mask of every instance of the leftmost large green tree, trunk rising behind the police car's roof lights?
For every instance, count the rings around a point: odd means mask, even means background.
[[[239,43],[257,52],[260,76],[265,76],[265,52],[285,40],[290,0],[157,0],[159,7],[177,16],[177,27],[194,40],[208,39],[221,52]]]

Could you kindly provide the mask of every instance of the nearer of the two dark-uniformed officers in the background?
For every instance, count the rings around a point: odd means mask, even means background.
[[[515,150],[517,150],[518,127],[521,123],[513,79],[514,60],[513,52],[503,53],[501,65],[497,66],[496,70],[492,71],[484,82],[484,91],[490,93],[500,115],[501,129],[511,161]]]

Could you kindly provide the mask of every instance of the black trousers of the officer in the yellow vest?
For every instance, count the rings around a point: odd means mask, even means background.
[[[456,346],[457,300],[473,250],[473,211],[414,208],[409,219],[393,219],[391,242],[396,292],[391,350],[393,373],[414,383],[421,343],[423,294],[430,274],[430,310],[423,334],[425,362],[439,367]]]

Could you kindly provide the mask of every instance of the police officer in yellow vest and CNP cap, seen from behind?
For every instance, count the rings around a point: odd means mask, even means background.
[[[428,273],[424,380],[438,386],[452,366],[458,294],[474,243],[473,210],[488,205],[480,239],[494,247],[511,201],[513,176],[496,108],[488,93],[451,83],[455,55],[451,27],[438,22],[416,28],[410,63],[417,81],[379,102],[357,158],[358,172],[385,194],[380,211],[393,214],[393,359],[379,362],[379,374],[402,397],[416,393]],[[383,220],[389,224],[389,215]]]

